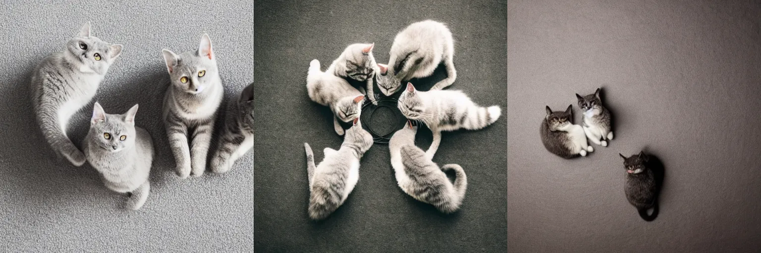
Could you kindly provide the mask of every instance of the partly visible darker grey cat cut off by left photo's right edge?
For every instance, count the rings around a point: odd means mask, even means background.
[[[217,152],[212,159],[212,171],[223,173],[253,147],[253,83],[248,84],[228,112],[224,132],[219,137]]]

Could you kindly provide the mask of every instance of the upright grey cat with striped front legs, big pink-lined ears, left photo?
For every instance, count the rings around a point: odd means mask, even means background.
[[[164,125],[176,172],[183,179],[201,176],[224,93],[212,41],[204,33],[195,51],[163,52],[171,83],[164,95]]]

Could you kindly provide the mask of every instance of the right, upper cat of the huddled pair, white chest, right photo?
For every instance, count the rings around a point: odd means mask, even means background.
[[[613,140],[613,131],[610,131],[610,111],[600,100],[600,88],[587,96],[576,94],[576,99],[584,112],[584,134],[592,143],[607,147],[608,141]]]

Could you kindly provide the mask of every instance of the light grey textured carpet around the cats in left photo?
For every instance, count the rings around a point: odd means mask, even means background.
[[[0,251],[253,250],[253,154],[227,174],[180,180],[160,122],[168,84],[163,48],[196,49],[207,32],[227,97],[253,80],[253,3],[14,1],[3,4],[0,17]],[[126,210],[126,197],[105,188],[90,166],[56,160],[30,112],[34,66],[86,21],[94,36],[124,45],[96,99],[110,113],[139,103],[137,125],[157,147],[151,195],[139,211]],[[72,120],[69,134],[77,142],[91,109]]]

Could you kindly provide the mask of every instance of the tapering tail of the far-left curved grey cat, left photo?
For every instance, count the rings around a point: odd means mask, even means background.
[[[45,135],[48,144],[50,144],[50,147],[53,147],[53,150],[59,155],[66,157],[66,159],[74,164],[74,166],[82,166],[86,161],[84,153],[72,143],[72,140],[69,140],[68,137],[66,137],[66,133],[58,124],[58,118],[56,116],[48,117],[49,114],[44,112],[37,113],[40,128],[42,128],[43,134]],[[53,114],[55,114],[55,112],[53,112]]]

